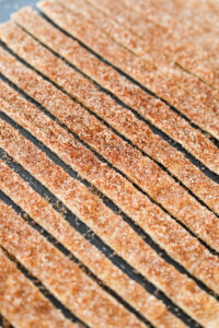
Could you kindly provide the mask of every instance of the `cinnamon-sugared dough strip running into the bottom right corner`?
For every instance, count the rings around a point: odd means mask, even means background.
[[[70,210],[82,218],[118,255],[147,279],[154,282],[175,304],[178,304],[197,321],[203,325],[212,324],[215,325],[212,327],[217,327],[219,304],[215,298],[161,259],[118,215],[107,209],[99,197],[69,177],[33,143],[2,120],[0,137],[0,145],[45,184]],[[89,167],[90,163],[85,162],[83,165]],[[93,168],[95,169],[95,166]],[[96,167],[96,169],[99,168]],[[175,232],[173,235],[175,239],[181,239]],[[188,251],[189,247],[191,245],[188,245]],[[199,260],[201,256],[203,254],[200,254]],[[208,269],[211,268],[208,262]]]

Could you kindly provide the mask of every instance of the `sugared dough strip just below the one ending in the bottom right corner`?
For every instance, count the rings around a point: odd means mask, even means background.
[[[168,311],[162,302],[147,293],[143,288],[115,267],[96,247],[71,227],[48,201],[36,194],[2,161],[0,161],[0,188],[72,251],[99,279],[130,303],[152,324],[166,328],[185,327],[180,319]]]

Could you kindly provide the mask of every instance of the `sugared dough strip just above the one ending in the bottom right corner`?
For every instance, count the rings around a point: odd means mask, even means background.
[[[123,206],[125,203],[122,209],[125,209],[128,214],[131,214],[134,220],[155,238],[162,248],[166,249],[175,260],[180,260],[188,271],[193,274],[197,274],[198,279],[204,280],[212,290],[219,292],[219,259],[217,256],[212,256],[196,238],[192,237],[182,226],[151,203],[147,197],[137,191],[122,176],[116,174],[115,171],[103,165],[91,152],[64,131],[56,122],[46,117],[39,109],[23,99],[3,82],[0,82],[0,86],[2,90],[2,98],[5,99],[5,102],[1,101],[0,105],[7,115],[28,129],[44,144],[72,166],[73,169],[79,172],[83,178],[93,183],[102,192],[105,192],[112,198],[116,204]],[[45,90],[44,87],[44,92]],[[55,94],[54,92],[51,93]],[[49,97],[49,102],[50,101]],[[60,109],[60,102],[57,103]],[[67,108],[66,101],[64,104],[65,108]],[[55,107],[54,109],[56,110]],[[69,112],[73,113],[72,107]],[[90,127],[95,127],[95,122],[90,122],[85,114],[79,115],[79,112],[76,113],[76,118],[71,120],[74,122],[74,126],[78,122],[77,117],[79,117],[79,120],[85,118]],[[69,116],[67,117],[68,120],[70,120]],[[97,131],[100,131],[100,129],[97,129]],[[97,133],[99,132],[95,133],[96,139]],[[93,166],[89,168],[85,163],[93,163],[95,169],[93,169]],[[218,221],[216,221],[216,224],[217,223]],[[196,223],[196,226],[197,224],[198,223]],[[200,224],[200,226],[203,225],[204,223]],[[212,232],[217,230],[217,227],[209,229],[209,231]],[[203,234],[207,234],[207,229],[204,230],[203,227]],[[176,236],[178,237],[176,238]],[[177,239],[177,242],[175,239]],[[188,249],[191,249],[191,251]],[[201,263],[199,263],[200,255]],[[208,263],[212,261],[214,265],[209,268]],[[191,270],[191,268],[193,269]]]

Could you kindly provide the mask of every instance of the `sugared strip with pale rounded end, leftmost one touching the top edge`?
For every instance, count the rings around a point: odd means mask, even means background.
[[[189,119],[219,139],[219,119],[214,110],[193,98],[173,79],[168,79],[154,66],[135,56],[104,32],[97,30],[85,16],[69,11],[53,0],[45,1],[39,8],[67,32],[79,38],[83,44],[108,60],[115,67],[168,101]],[[169,109],[170,110],[170,109]],[[208,115],[206,115],[206,112]]]

